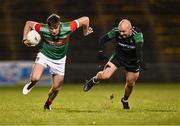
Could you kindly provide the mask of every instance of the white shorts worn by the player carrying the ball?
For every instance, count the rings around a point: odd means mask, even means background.
[[[52,60],[39,52],[36,57],[35,63],[43,65],[45,68],[49,68],[51,74],[63,75],[65,72],[66,56],[60,60]]]

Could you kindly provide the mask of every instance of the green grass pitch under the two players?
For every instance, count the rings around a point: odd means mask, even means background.
[[[123,89],[122,83],[101,83],[85,93],[81,84],[65,83],[46,112],[49,87],[27,96],[22,86],[0,87],[0,125],[180,125],[180,84],[138,83],[130,110],[119,103]]]

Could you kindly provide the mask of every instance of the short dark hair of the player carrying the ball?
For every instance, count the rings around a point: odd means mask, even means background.
[[[49,27],[56,27],[60,23],[60,16],[57,14],[51,14],[47,18],[47,24]]]

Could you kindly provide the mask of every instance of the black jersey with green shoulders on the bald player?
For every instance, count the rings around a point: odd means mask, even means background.
[[[128,38],[122,38],[118,28],[115,27],[107,33],[107,36],[110,40],[116,40],[117,46],[115,49],[115,53],[117,55],[129,61],[137,60],[136,45],[138,43],[144,42],[143,34],[140,29],[138,29],[137,27],[133,27],[132,35]]]

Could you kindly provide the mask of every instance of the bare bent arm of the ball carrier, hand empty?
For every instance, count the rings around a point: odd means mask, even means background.
[[[79,22],[79,27],[83,27],[84,36],[87,36],[93,32],[93,29],[89,27],[89,17],[83,16],[78,18],[77,21]]]

